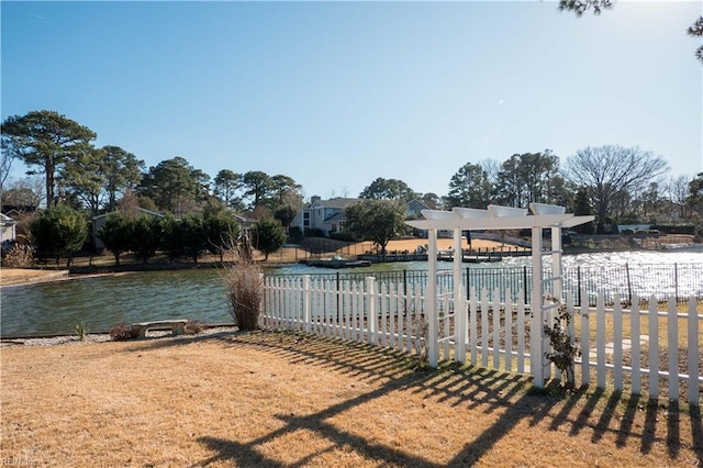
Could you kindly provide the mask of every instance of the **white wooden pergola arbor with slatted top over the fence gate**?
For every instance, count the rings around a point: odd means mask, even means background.
[[[558,307],[558,303],[545,303],[544,286],[553,283],[554,297],[561,300],[561,230],[573,227],[593,221],[594,216],[576,216],[566,213],[563,207],[544,203],[531,203],[529,212],[526,208],[512,208],[489,205],[487,210],[471,208],[454,208],[451,211],[422,210],[424,220],[408,221],[406,224],[427,231],[427,263],[428,281],[426,297],[426,314],[428,322],[428,336],[433,337],[427,343],[427,358],[432,367],[437,366],[438,344],[437,344],[437,232],[454,232],[454,301],[455,304],[462,304],[466,298],[462,297],[461,287],[461,264],[464,260],[461,249],[461,232],[484,231],[484,230],[532,230],[532,300],[533,311],[531,330],[531,355],[538,353],[542,356],[542,366],[531,365],[535,377],[535,385],[544,387],[545,363],[542,333],[534,333],[543,328],[543,313],[550,307]],[[543,249],[543,230],[551,230],[551,247]],[[553,276],[544,277],[544,259],[548,256],[551,264]],[[429,300],[434,298],[434,300]],[[455,309],[456,310],[456,309]],[[538,313],[537,313],[538,312]],[[465,313],[455,315],[455,336],[457,348],[455,358],[465,361],[466,358],[466,322]]]

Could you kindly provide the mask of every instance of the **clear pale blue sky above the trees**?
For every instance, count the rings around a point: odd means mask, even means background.
[[[147,167],[181,156],[356,197],[466,163],[639,146],[703,171],[702,3],[0,3],[1,113],[54,110]],[[16,175],[22,175],[18,169]]]

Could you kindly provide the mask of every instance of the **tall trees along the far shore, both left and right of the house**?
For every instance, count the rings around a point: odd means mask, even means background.
[[[3,204],[31,204],[43,198],[47,207],[68,204],[87,210],[91,218],[114,211],[118,202],[176,218],[249,211],[254,219],[277,219],[283,227],[303,205],[302,186],[291,177],[222,169],[211,178],[183,157],[146,168],[144,160],[119,146],[96,147],[93,131],[55,111],[10,116],[2,122],[1,134]],[[36,185],[4,187],[14,160],[24,163],[30,174],[44,176],[43,197],[36,193]],[[576,214],[594,214],[598,233],[638,222],[683,221],[700,226],[703,175],[666,180],[667,171],[661,156],[638,147],[587,147],[563,163],[545,149],[514,154],[503,161],[466,163],[451,176],[444,196],[419,193],[402,180],[377,178],[358,198],[419,199],[436,209],[560,204]]]

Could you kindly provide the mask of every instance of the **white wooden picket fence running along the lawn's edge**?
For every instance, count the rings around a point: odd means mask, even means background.
[[[419,288],[403,293],[401,285],[377,283],[375,278],[338,283],[309,276],[266,277],[264,283],[261,324],[266,327],[425,354],[431,363],[435,353],[434,361],[468,361],[544,379],[560,377],[544,357],[549,342],[543,327],[554,323],[555,311],[535,317],[528,304],[492,299],[511,298],[511,291],[482,290],[477,294],[471,290],[468,299],[461,293],[455,303],[454,291],[440,289],[433,327],[425,313],[427,298]],[[606,307],[599,297],[595,308],[576,308],[571,294],[567,296],[565,304],[574,317],[571,336],[582,350],[577,359],[577,383],[700,404],[703,314],[696,310],[695,298],[689,300],[684,313],[677,311],[674,300],[665,312],[657,310],[654,297],[648,309],[638,303],[634,298],[633,307],[626,309],[615,298]],[[539,334],[531,333],[535,327]],[[437,332],[434,341],[429,330]],[[533,359],[534,349],[539,358]]]

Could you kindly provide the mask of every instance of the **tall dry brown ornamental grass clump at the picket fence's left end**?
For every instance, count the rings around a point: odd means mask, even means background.
[[[241,249],[234,252],[235,261],[224,266],[231,313],[239,330],[257,330],[264,294],[261,269]]]

